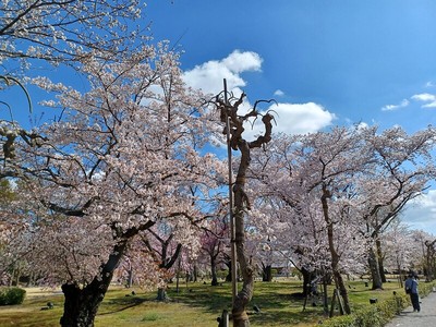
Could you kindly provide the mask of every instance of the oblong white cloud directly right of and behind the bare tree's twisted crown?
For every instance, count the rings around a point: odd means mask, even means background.
[[[317,132],[328,125],[336,119],[335,113],[329,112],[323,106],[307,104],[278,104],[271,105],[268,110],[276,118],[277,125],[272,125],[274,133],[287,134],[306,134]],[[265,113],[265,112],[263,112]],[[251,141],[252,137],[263,133],[263,124],[257,120],[255,125],[245,125],[245,137]]]

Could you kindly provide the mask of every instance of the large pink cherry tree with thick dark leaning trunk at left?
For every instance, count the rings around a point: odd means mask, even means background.
[[[61,109],[62,120],[41,126],[35,146],[17,142],[7,161],[26,181],[37,218],[28,259],[45,281],[62,282],[62,326],[92,326],[131,242],[160,223],[201,225],[197,202],[223,180],[215,156],[192,146],[206,142],[208,118],[165,44],[121,63],[95,53],[82,70],[85,94],[35,80],[57,94],[45,104]],[[158,274],[156,265],[144,270],[152,280]]]

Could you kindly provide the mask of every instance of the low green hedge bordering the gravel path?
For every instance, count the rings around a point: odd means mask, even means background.
[[[433,291],[435,283],[420,283],[420,295],[426,296]],[[395,315],[410,306],[410,296],[401,292],[395,293],[392,298],[370,304],[351,315],[336,316],[323,322],[323,327],[383,327],[389,323]]]

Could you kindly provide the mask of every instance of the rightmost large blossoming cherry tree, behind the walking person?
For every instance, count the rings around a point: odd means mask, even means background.
[[[435,130],[432,128],[408,135],[401,128],[367,134],[367,145],[374,152],[372,169],[358,179],[362,208],[363,232],[371,237],[368,263],[373,289],[383,288],[378,235],[404,206],[422,194],[434,178],[432,149]]]

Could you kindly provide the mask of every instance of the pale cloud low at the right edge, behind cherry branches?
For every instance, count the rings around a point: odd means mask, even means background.
[[[412,229],[436,235],[436,190],[411,201],[403,211],[402,221]]]

